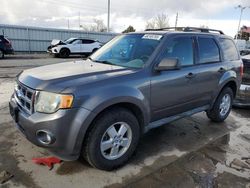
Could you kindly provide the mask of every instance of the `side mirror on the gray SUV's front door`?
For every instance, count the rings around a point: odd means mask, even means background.
[[[180,68],[181,65],[177,58],[164,58],[155,66],[156,71],[178,70]]]

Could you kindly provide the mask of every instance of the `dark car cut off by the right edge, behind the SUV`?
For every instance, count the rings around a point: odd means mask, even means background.
[[[234,106],[250,107],[250,55],[242,56],[242,61],[244,64],[243,78]]]

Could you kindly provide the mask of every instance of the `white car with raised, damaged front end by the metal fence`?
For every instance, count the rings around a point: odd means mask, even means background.
[[[69,57],[71,54],[84,54],[90,55],[98,50],[103,43],[85,38],[69,38],[65,41],[54,39],[51,46],[48,47],[50,54],[57,57]]]

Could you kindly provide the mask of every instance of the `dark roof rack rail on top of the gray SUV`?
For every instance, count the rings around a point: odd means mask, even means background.
[[[160,29],[146,29],[145,31],[184,31],[184,32],[203,32],[203,33],[219,33],[221,35],[224,35],[224,33],[221,30],[216,29],[209,29],[209,28],[200,28],[200,27],[165,27]]]

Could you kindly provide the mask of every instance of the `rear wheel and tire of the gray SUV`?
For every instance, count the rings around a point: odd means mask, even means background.
[[[232,109],[233,96],[231,88],[224,88],[217,97],[213,108],[207,111],[208,118],[214,122],[223,122]]]

